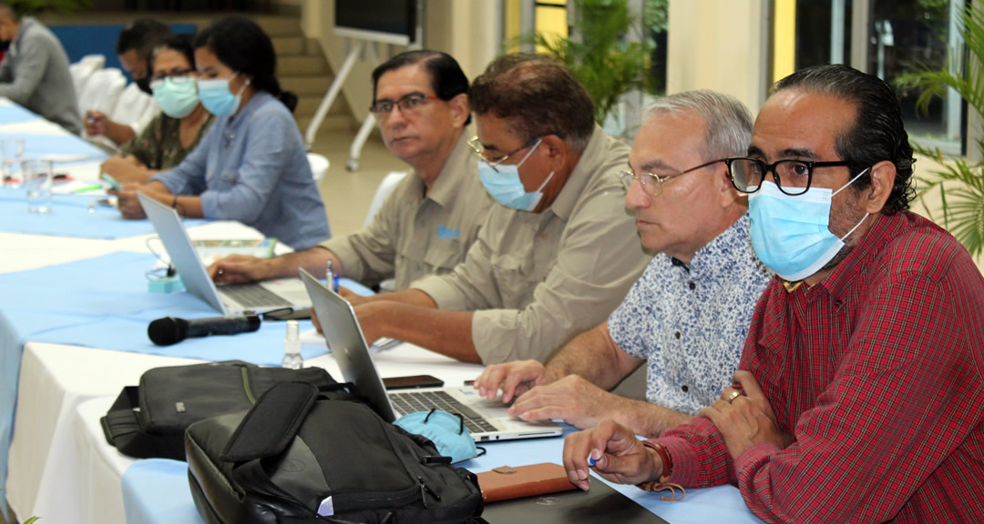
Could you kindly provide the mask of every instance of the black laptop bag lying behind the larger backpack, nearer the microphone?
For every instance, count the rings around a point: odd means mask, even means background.
[[[321,368],[261,368],[242,361],[154,368],[139,386],[123,388],[101,419],[110,445],[137,458],[184,460],[184,432],[192,424],[250,409],[280,382],[316,387],[336,383]]]

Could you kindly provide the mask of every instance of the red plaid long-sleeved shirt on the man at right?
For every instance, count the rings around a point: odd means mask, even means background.
[[[700,418],[659,438],[671,482],[769,522],[984,522],[984,278],[944,230],[880,215],[813,288],[773,279],[741,369],[795,441],[732,460]]]

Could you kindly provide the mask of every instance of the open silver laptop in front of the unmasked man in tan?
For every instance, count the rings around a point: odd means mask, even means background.
[[[137,198],[154,224],[154,230],[167,250],[185,289],[209,303],[222,315],[311,307],[304,284],[296,278],[215,286],[205,264],[199,259],[195,246],[188,238],[188,232],[185,231],[177,211],[142,193],[138,193]]]

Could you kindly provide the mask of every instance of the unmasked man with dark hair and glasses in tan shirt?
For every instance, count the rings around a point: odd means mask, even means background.
[[[406,289],[464,260],[492,200],[482,189],[468,136],[468,81],[458,62],[437,51],[401,53],[373,71],[375,100],[386,146],[410,164],[406,176],[365,229],[274,259],[231,256],[215,262],[216,282],[296,277],[304,267],[335,272],[372,286],[396,278]]]

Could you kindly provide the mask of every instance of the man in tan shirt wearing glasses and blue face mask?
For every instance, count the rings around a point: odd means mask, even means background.
[[[467,259],[411,289],[352,299],[368,340],[467,362],[546,360],[622,301],[649,257],[618,171],[629,147],[594,124],[562,65],[507,55],[475,80],[479,176],[499,202]]]

